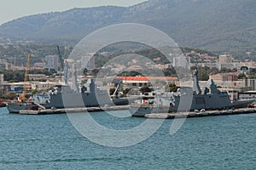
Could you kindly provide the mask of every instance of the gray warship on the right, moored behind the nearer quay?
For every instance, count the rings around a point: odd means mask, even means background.
[[[193,73],[193,87],[178,89],[177,93],[165,93],[154,98],[153,105],[132,105],[132,116],[145,116],[150,113],[172,113],[182,111],[213,111],[245,108],[253,99],[230,100],[227,92],[221,92],[212,79],[208,87],[201,91],[197,71]]]

